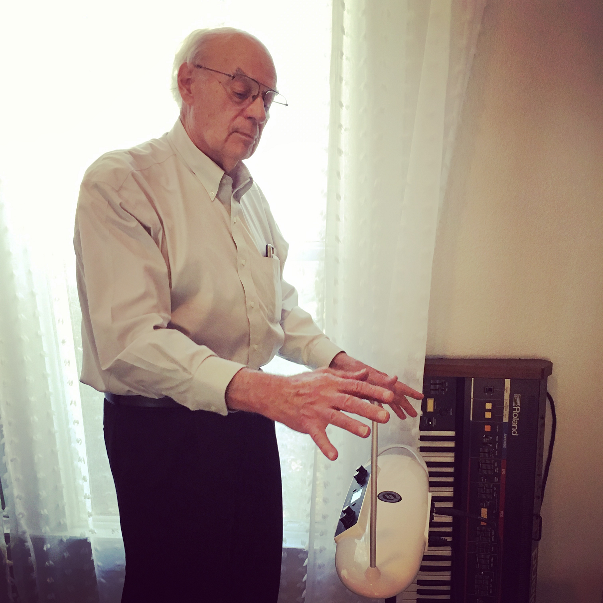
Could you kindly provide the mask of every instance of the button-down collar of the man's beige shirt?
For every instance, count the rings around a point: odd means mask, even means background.
[[[180,118],[176,120],[174,127],[168,132],[168,140],[188,168],[200,180],[213,201],[218,193],[224,170],[195,146],[186,133]],[[251,174],[243,162],[238,163],[235,169],[230,172],[230,176],[233,180],[232,189],[239,200],[251,188],[253,178],[251,178]]]

